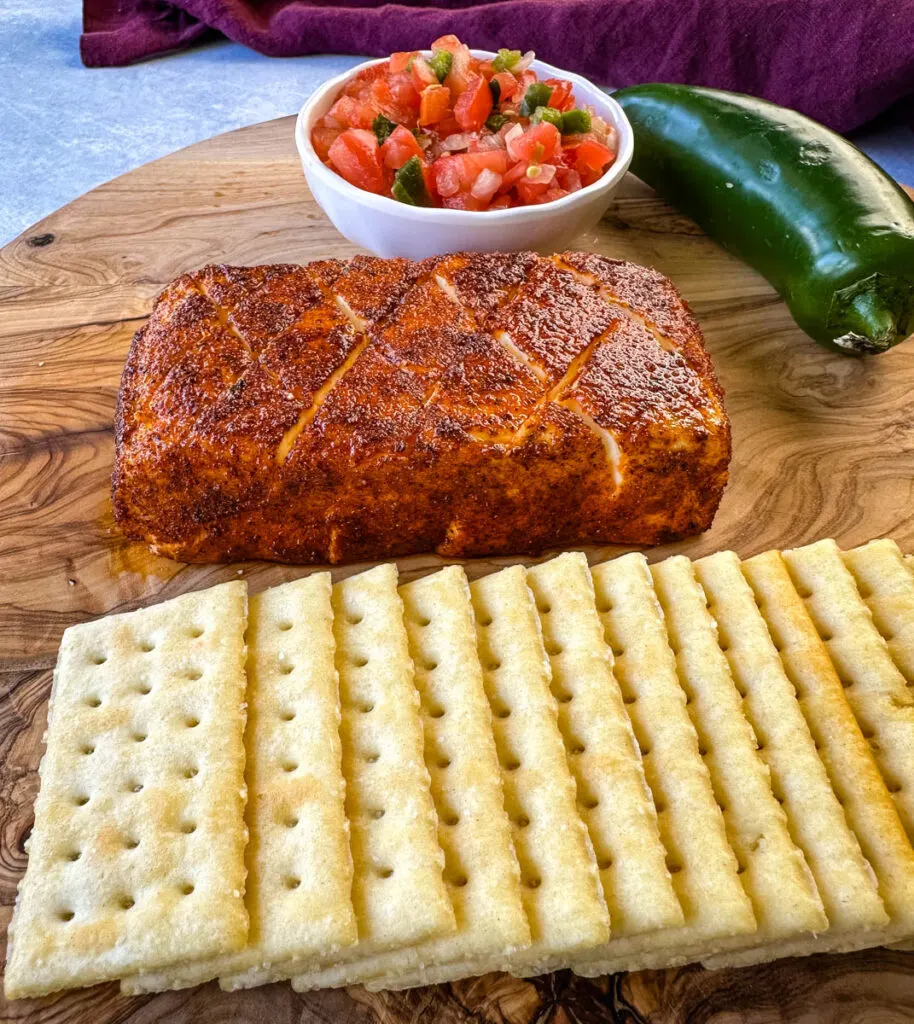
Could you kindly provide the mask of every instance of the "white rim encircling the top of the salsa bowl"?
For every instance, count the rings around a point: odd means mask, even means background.
[[[420,50],[419,52],[424,55],[430,55],[432,51]],[[482,59],[490,59],[496,55],[491,50],[471,49],[470,52],[473,56]],[[346,82],[364,71],[365,68],[372,68],[388,59],[389,57],[377,57],[371,60],[363,60],[354,68],[350,68],[348,71],[328,79],[302,104],[295,123],[296,146],[305,170],[313,173],[318,180],[340,193],[344,198],[357,202],[361,206],[377,210],[379,213],[394,214],[412,220],[423,220],[431,224],[532,220],[536,217],[548,216],[551,213],[570,210],[572,207],[585,203],[587,200],[594,199],[604,191],[610,191],[628,170],[628,165],[632,163],[635,136],[632,125],[625,117],[625,112],[622,108],[612,96],[603,92],[599,86],[581,75],[564,71],[561,68],[555,67],[555,65],[548,63],[546,60],[534,59],[531,67],[537,72],[545,72],[548,78],[568,79],[576,87],[586,90],[586,101],[589,103],[595,106],[600,103],[605,104],[606,111],[611,116],[610,119],[616,128],[618,139],[616,159],[606,174],[593,184],[585,185],[575,193],[563,196],[562,199],[553,200],[550,203],[542,203],[538,206],[512,207],[509,210],[448,210],[441,207],[407,206],[405,203],[398,203],[393,197],[378,196],[375,193],[365,191],[363,188],[357,188],[355,185],[350,184],[342,175],[331,170],[318,158],[314,147],[311,145],[311,126],[316,119],[316,109],[327,98],[329,93],[341,89]],[[591,96],[591,92],[596,95]]]

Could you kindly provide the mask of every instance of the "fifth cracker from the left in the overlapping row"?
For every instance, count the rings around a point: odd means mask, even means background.
[[[576,806],[550,690],[550,663],[522,566],[471,585],[479,656],[520,863],[533,969],[609,938],[597,862]]]

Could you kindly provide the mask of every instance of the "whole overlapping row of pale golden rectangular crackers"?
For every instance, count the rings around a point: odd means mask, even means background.
[[[379,565],[74,627],[7,994],[904,942],[912,686],[890,541]]]

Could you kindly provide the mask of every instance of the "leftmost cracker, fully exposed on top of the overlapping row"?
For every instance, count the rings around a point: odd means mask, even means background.
[[[8,997],[244,946],[246,620],[236,582],[63,634]]]

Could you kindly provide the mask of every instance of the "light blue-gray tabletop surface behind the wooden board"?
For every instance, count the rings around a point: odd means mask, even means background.
[[[83,68],[78,0],[0,0],[0,245],[95,185],[242,125],[294,114],[358,56],[277,60],[215,43],[130,68]],[[914,184],[914,131],[855,140]]]

